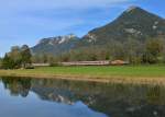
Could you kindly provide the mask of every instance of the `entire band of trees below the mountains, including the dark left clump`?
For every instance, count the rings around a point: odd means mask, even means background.
[[[54,56],[33,55],[28,45],[14,46],[1,59],[4,69],[28,68],[31,63],[56,65],[63,61],[124,60],[130,63],[164,63],[165,39],[163,37],[139,40],[128,38],[124,42],[112,40],[106,45],[90,45]]]

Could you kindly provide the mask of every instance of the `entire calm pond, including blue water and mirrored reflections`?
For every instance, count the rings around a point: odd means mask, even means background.
[[[1,78],[0,117],[165,117],[165,86]]]

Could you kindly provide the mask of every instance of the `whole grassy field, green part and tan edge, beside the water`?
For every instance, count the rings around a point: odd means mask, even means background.
[[[41,67],[26,70],[0,70],[0,75],[98,82],[165,83],[165,66]]]

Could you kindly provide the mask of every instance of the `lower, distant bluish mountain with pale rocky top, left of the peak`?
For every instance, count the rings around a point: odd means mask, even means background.
[[[74,48],[79,38],[73,34],[43,38],[36,46],[32,47],[31,50],[34,55],[59,55],[61,52],[65,52]]]

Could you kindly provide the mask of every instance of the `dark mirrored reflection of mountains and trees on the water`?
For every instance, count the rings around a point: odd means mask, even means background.
[[[2,78],[1,81],[11,95],[26,97],[33,92],[41,101],[74,106],[87,105],[90,109],[111,117],[165,117],[165,87],[160,85],[19,78]]]

